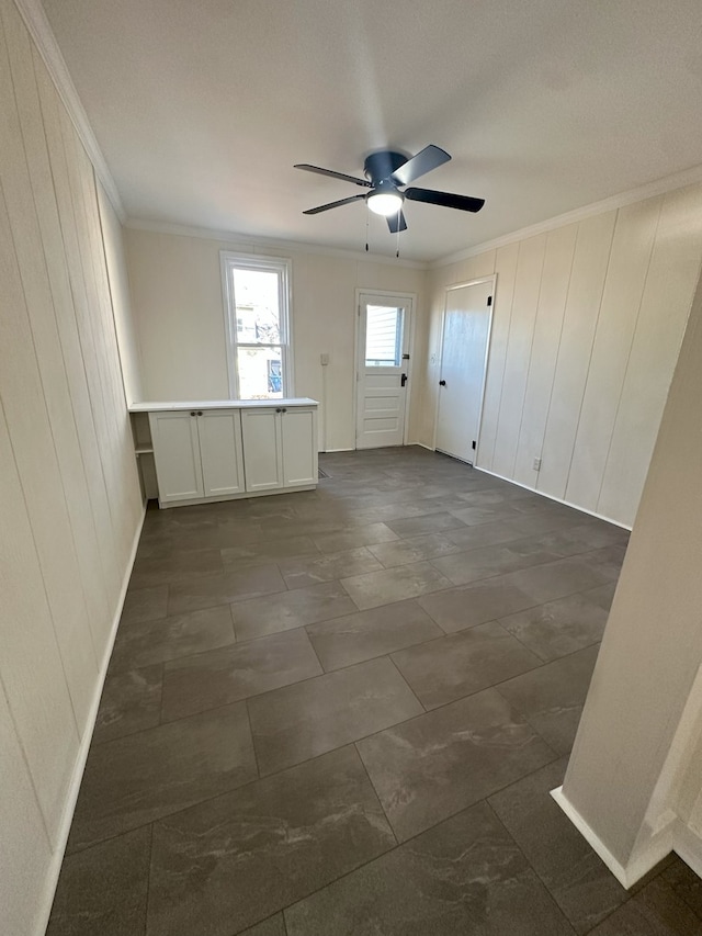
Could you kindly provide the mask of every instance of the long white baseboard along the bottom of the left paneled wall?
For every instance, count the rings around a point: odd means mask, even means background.
[[[54,903],[54,894],[56,893],[56,886],[58,884],[58,876],[61,870],[61,865],[64,864],[64,855],[66,853],[66,845],[68,844],[68,834],[70,832],[71,822],[73,821],[73,812],[76,811],[76,803],[78,801],[78,792],[80,790],[80,783],[83,778],[83,771],[86,769],[86,762],[88,760],[88,752],[90,751],[90,743],[92,741],[92,734],[95,729],[95,720],[98,718],[98,709],[100,708],[100,698],[102,696],[102,688],[104,686],[105,676],[107,675],[107,664],[110,663],[110,657],[112,656],[112,649],[114,646],[115,636],[117,634],[117,627],[120,624],[120,618],[122,617],[122,609],[124,607],[124,600],[127,594],[127,587],[129,585],[129,578],[132,577],[132,568],[134,567],[134,560],[136,559],[137,546],[139,545],[139,539],[141,537],[141,529],[144,527],[144,520],[146,519],[146,504],[144,504],[144,509],[141,512],[141,520],[137,525],[136,533],[134,535],[134,542],[132,543],[132,551],[129,554],[129,560],[127,562],[127,566],[124,573],[124,578],[122,579],[122,588],[120,590],[120,600],[117,601],[117,607],[114,613],[114,618],[112,621],[112,628],[110,631],[110,636],[107,639],[107,643],[105,645],[105,652],[103,654],[102,664],[100,666],[100,674],[98,677],[98,681],[95,684],[95,691],[92,700],[92,704],[90,707],[90,713],[88,717],[88,722],[86,725],[86,732],[80,742],[80,747],[78,748],[78,757],[76,758],[76,765],[73,767],[73,775],[71,777],[70,783],[68,786],[68,792],[66,794],[66,804],[64,807],[64,813],[61,815],[61,821],[58,830],[58,846],[56,847],[53,856],[52,864],[49,866],[47,881],[46,881],[46,893],[44,901],[44,912],[41,914],[42,926],[37,931],[36,936],[43,936],[46,932],[46,927],[48,926],[48,918],[52,913],[52,905]]]

